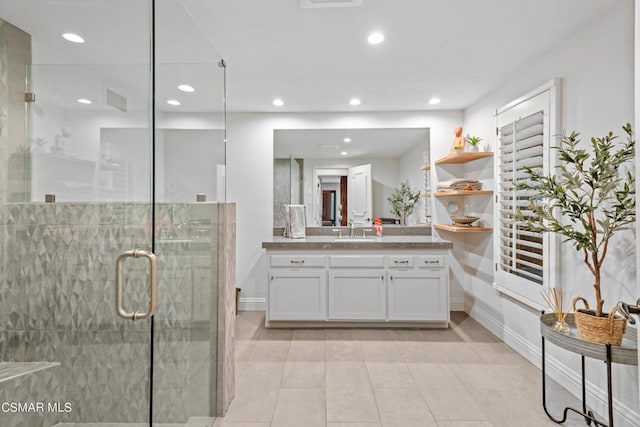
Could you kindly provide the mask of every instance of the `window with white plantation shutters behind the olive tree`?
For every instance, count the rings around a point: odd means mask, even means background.
[[[523,230],[515,223],[519,208],[526,216],[529,199],[535,192],[518,190],[518,181],[527,179],[525,167],[549,173],[555,166],[558,135],[556,114],[559,81],[553,80],[496,113],[496,288],[536,309],[544,308],[541,291],[555,286],[558,277],[556,238],[548,233]]]

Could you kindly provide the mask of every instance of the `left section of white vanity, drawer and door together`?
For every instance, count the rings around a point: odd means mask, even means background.
[[[269,257],[269,320],[326,320],[327,272],[324,255]]]

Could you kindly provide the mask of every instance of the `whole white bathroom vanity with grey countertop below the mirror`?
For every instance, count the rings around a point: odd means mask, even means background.
[[[396,235],[263,242],[267,327],[434,326],[449,323],[452,243]]]

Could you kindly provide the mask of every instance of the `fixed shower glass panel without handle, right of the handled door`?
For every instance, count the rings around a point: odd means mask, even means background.
[[[155,71],[155,253],[161,279],[153,422],[210,426],[218,397],[225,69],[179,1],[157,3]]]

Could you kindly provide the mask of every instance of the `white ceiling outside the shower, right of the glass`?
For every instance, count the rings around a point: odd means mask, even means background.
[[[227,61],[229,107],[241,111],[462,109],[618,2],[183,0]],[[366,41],[374,30],[385,35],[377,46]]]

